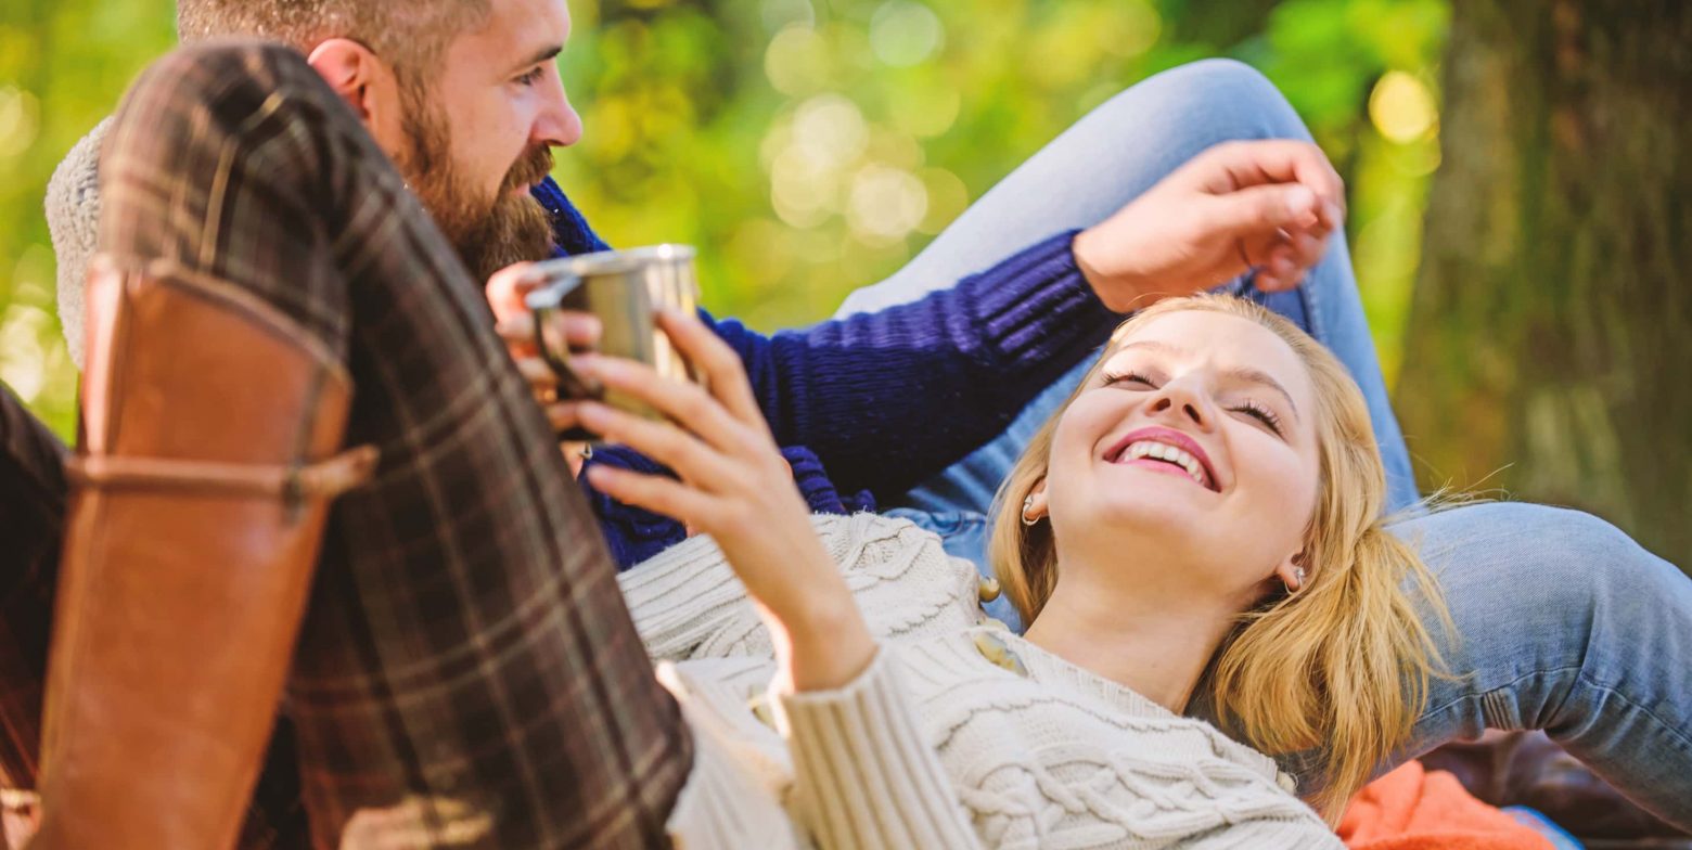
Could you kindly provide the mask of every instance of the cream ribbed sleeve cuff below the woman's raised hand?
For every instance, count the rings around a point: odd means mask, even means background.
[[[800,816],[819,847],[980,847],[882,647],[849,684],[782,695]]]

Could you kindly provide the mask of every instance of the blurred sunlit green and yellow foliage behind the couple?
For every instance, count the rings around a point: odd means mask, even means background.
[[[1389,382],[1438,166],[1447,0],[572,0],[587,135],[557,176],[614,245],[700,247],[706,302],[826,318],[1090,108],[1206,56],[1274,79],[1347,176]],[[0,380],[61,434],[76,372],[42,198],[174,42],[169,0],[0,10]],[[1036,240],[1041,233],[1030,233]],[[1012,247],[1007,247],[1010,250]]]

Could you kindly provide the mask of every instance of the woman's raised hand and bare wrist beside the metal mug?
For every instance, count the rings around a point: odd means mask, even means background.
[[[770,625],[777,654],[797,689],[836,688],[875,656],[875,640],[810,526],[810,510],[758,409],[739,355],[697,318],[667,309],[658,318],[709,390],[658,377],[645,363],[584,355],[584,377],[633,395],[672,422],[643,419],[601,402],[582,402],[589,431],[675,470],[680,480],[592,466],[602,493],[675,517],[711,534]]]

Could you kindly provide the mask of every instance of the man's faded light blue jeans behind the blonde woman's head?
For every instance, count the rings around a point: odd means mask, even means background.
[[[1272,137],[1310,133],[1250,68],[1211,59],[1157,74],[1078,122],[910,265],[848,297],[841,313],[922,297],[992,265],[1007,248],[1101,221],[1210,145]],[[1237,281],[1230,289],[1249,286]],[[1350,368],[1374,417],[1389,505],[1415,505],[1409,455],[1343,238],[1333,240],[1305,286],[1266,304]],[[1086,367],[888,514],[936,531],[949,553],[985,571],[993,493]],[[1404,517],[1393,529],[1418,544],[1440,575],[1462,635],[1447,647],[1462,676],[1433,683],[1404,757],[1486,728],[1543,728],[1641,806],[1692,828],[1692,581],[1585,514],[1489,504]],[[1003,600],[988,613],[1020,625]]]

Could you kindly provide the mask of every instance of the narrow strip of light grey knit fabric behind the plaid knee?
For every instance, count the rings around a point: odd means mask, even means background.
[[[112,118],[100,122],[47,183],[47,230],[59,259],[59,324],[71,360],[83,368],[83,282],[100,243],[100,147]]]

